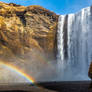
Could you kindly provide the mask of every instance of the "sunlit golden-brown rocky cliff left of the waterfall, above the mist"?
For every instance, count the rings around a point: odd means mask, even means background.
[[[0,2],[0,57],[37,51],[54,59],[57,21],[58,15],[40,6]]]

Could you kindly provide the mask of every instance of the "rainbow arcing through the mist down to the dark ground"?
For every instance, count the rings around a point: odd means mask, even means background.
[[[24,77],[25,79],[27,79],[29,82],[31,82],[32,84],[35,82],[34,79],[29,76],[28,74],[26,74],[24,71],[22,71],[21,69],[9,64],[9,63],[4,63],[4,62],[0,62],[0,65],[4,65],[12,70],[14,70],[14,72],[18,73],[20,76]]]

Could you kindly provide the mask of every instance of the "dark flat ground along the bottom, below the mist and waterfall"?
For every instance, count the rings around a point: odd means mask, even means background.
[[[0,92],[92,92],[91,81],[1,85]]]

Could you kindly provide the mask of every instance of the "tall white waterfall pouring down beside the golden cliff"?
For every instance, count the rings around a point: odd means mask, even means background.
[[[89,80],[92,61],[92,8],[60,15],[58,23],[58,72],[61,80]]]

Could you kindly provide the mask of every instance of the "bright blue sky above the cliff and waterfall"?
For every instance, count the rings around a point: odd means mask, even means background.
[[[69,14],[80,11],[92,5],[92,0],[0,0],[6,3],[16,3],[24,6],[40,5],[57,14]]]

